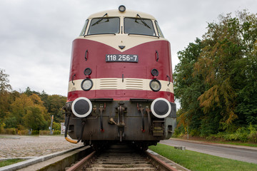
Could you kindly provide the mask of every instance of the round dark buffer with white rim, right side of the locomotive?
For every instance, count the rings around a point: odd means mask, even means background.
[[[156,98],[151,103],[151,112],[157,118],[166,118],[171,113],[171,103],[165,98]]]

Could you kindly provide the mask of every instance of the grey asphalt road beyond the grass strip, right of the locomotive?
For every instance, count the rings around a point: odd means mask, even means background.
[[[215,143],[190,142],[185,140],[162,140],[161,144],[171,146],[185,146],[186,150],[216,155],[243,162],[252,162],[257,164],[257,148],[242,147],[237,145],[220,145]]]

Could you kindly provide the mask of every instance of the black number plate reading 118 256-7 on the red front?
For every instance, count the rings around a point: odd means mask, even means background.
[[[137,55],[107,54],[106,62],[138,62]]]

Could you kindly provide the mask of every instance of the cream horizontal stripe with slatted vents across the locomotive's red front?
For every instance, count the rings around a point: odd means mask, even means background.
[[[93,78],[93,87],[91,90],[151,90],[149,83],[150,79],[139,79],[139,78]],[[74,85],[69,82],[68,92],[74,90],[82,90],[81,80],[74,80]],[[173,83],[168,86],[168,81],[161,81],[161,90],[173,93]]]

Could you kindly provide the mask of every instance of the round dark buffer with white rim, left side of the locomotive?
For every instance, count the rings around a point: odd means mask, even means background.
[[[92,103],[88,98],[76,98],[71,105],[71,110],[79,118],[85,118],[92,111]]]

